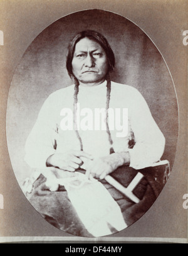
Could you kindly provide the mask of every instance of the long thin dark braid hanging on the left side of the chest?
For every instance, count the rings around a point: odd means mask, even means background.
[[[75,133],[76,136],[80,142],[80,150],[83,151],[83,143],[81,141],[80,134],[78,133],[78,127],[77,127],[77,103],[78,103],[78,92],[79,92],[79,82],[77,79],[75,79],[75,92],[74,92],[74,106],[73,106],[73,117],[74,117],[74,125],[75,125]]]

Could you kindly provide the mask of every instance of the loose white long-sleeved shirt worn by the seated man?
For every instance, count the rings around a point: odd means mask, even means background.
[[[80,85],[78,92],[78,109],[80,109],[80,112],[77,113],[77,117],[80,118],[78,132],[83,143],[83,150],[93,155],[94,158],[109,155],[111,147],[107,131],[95,130],[95,110],[106,106],[106,85],[107,81],[98,86]],[[64,123],[66,126],[65,118],[68,120],[67,114],[62,115],[62,109],[73,111],[73,95],[74,85],[53,92],[44,102],[26,141],[25,160],[31,167],[45,167],[46,160],[55,152],[63,153],[70,149],[80,150],[80,143],[75,131],[73,129],[62,130],[64,127],[62,124]],[[91,112],[85,112],[84,115],[85,108],[90,109]],[[120,131],[117,130],[116,125],[114,125],[114,129],[110,130],[114,151],[129,152],[130,167],[134,169],[149,167],[159,161],[164,153],[165,138],[140,92],[132,86],[111,82],[109,108],[114,111],[119,109],[120,118],[116,120],[120,121],[119,125],[122,125],[123,121],[125,124],[125,120],[127,120],[125,136],[117,136]],[[128,118],[123,116],[123,109],[127,109]],[[80,116],[79,113],[83,116]],[[93,119],[91,118],[92,113]],[[93,123],[91,123],[92,120]],[[81,125],[85,124],[87,127],[88,121],[90,121],[90,126],[88,125],[90,130],[83,130]],[[104,122],[105,120],[100,121]],[[135,145],[133,148],[129,148],[128,142],[132,138],[135,140]]]

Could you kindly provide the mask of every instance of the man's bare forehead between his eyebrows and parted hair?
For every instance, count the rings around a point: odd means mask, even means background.
[[[75,52],[78,51],[92,51],[92,50],[103,50],[102,46],[95,42],[95,40],[92,40],[90,38],[82,38],[78,43],[75,45]]]

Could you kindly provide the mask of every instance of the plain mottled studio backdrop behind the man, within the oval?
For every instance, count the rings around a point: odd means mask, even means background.
[[[164,58],[144,31],[118,14],[97,9],[69,14],[45,28],[31,42],[16,67],[9,89],[6,134],[18,184],[23,189],[23,182],[33,172],[24,162],[24,145],[41,106],[52,92],[73,84],[66,71],[68,43],[78,31],[88,29],[102,33],[112,47],[115,54],[112,81],[128,84],[141,92],[165,136],[163,165],[153,167],[155,177],[150,170],[147,172],[147,179],[159,180],[160,186],[154,191],[159,195],[172,171],[177,145],[179,118],[174,83]],[[143,213],[135,215],[138,216],[132,218],[128,226]],[[55,225],[50,218],[46,220]],[[71,233],[67,230],[64,229]],[[90,233],[81,235],[90,237]]]

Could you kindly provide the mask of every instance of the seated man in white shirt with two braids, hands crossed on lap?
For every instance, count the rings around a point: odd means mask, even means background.
[[[26,142],[26,162],[43,174],[34,182],[29,200],[46,220],[73,235],[120,231],[156,198],[145,178],[135,191],[139,203],[107,182],[110,175],[128,186],[138,169],[160,160],[165,146],[140,92],[110,81],[114,65],[103,35],[78,33],[66,60],[74,84],[46,99]],[[53,188],[50,172],[58,185]]]

